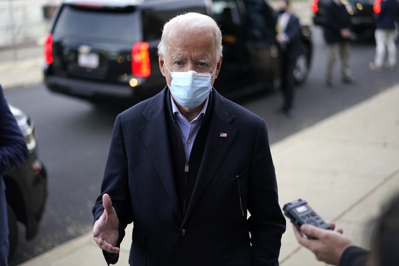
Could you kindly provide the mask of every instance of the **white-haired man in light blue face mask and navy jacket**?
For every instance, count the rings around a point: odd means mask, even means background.
[[[221,50],[209,16],[165,24],[158,60],[167,86],[118,115],[93,208],[108,264],[133,222],[130,265],[278,265],[285,218],[267,130],[213,88]]]

